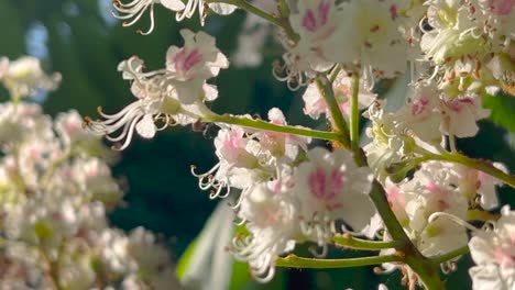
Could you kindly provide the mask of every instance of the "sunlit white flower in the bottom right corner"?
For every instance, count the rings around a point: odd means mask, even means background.
[[[474,290],[515,288],[515,212],[505,205],[501,214],[492,230],[475,232],[469,242],[476,264],[469,269]]]

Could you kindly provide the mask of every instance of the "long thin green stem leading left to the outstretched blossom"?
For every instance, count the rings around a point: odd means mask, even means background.
[[[200,119],[202,122],[209,123],[224,123],[224,124],[232,124],[232,125],[240,125],[245,127],[252,129],[260,129],[265,131],[272,132],[280,132],[299,136],[306,136],[311,138],[319,138],[319,140],[327,140],[327,141],[340,141],[341,135],[335,132],[326,132],[326,131],[317,131],[297,126],[288,126],[288,125],[276,125],[272,124],[262,120],[253,120],[249,118],[242,116],[233,116],[230,114],[209,114],[205,115]]]

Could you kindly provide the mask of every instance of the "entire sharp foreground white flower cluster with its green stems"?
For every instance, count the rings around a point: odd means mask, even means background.
[[[132,25],[150,9],[152,31],[156,3],[177,20],[198,10],[201,24],[209,10],[253,14],[239,35],[235,65],[259,64],[275,32],[283,51],[273,75],[291,90],[306,87],[304,113],[325,116],[330,126],[288,125],[276,108],[267,121],[212,112],[206,102],[218,91],[207,80],[229,62],[213,37],[188,30],[180,31],[183,47],[168,48],[164,69],[144,71],[135,56],[123,60],[119,70],[136,101],[112,115],[100,111],[103,121],[86,120],[90,131],[123,141],[119,149],[134,131],[151,138],[172,124],[215,124],[219,163],[205,174],[191,171],[210,198],[235,196],[231,205],[245,231],[229,249],[256,279],[271,280],[277,260],[298,243],[314,243],[313,254],[324,257],[337,239],[365,236],[381,241],[340,245],[381,250],[380,258],[409,274],[412,287],[442,287],[439,277],[412,274],[452,263],[468,244],[478,263],[470,270],[474,288],[514,287],[513,214],[503,208],[495,235],[470,242],[463,221],[494,216],[489,211],[501,205],[495,186],[515,181],[503,165],[468,158],[456,144],[475,136],[478,121],[490,115],[483,98],[513,92],[514,1],[134,0],[116,1],[116,15]],[[391,110],[375,83],[403,74],[409,76],[405,102]],[[370,120],[368,143],[359,135],[360,110]],[[313,138],[330,143],[317,146]]]

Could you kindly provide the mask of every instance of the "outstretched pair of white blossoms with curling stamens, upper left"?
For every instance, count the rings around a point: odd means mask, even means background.
[[[110,135],[121,130],[109,141],[123,143],[118,149],[127,148],[134,131],[144,138],[154,137],[157,131],[172,124],[193,124],[210,110],[204,104],[218,97],[215,86],[206,83],[220,68],[229,63],[218,48],[215,38],[204,32],[197,34],[180,31],[185,46],[171,46],[166,56],[166,68],[143,71],[144,63],[136,56],[118,66],[123,79],[130,80],[136,101],[116,114],[99,110],[105,121],[86,120],[86,126],[99,135]],[[162,123],[156,125],[156,123]]]

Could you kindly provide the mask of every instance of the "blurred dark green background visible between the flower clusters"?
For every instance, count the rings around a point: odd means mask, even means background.
[[[124,29],[111,16],[110,4],[110,0],[0,0],[0,56],[13,59],[24,54],[33,55],[43,60],[47,71],[63,75],[61,88],[44,101],[47,113],[76,109],[83,115],[96,116],[98,105],[106,112],[117,112],[133,100],[129,83],[116,69],[120,60],[139,55],[149,69],[163,67],[167,47],[182,44],[178,31],[182,27],[201,29],[197,15],[176,23],[172,13],[156,7],[155,30],[151,35],[142,36],[135,30],[146,29],[147,18],[144,16],[135,27]],[[219,48],[231,55],[239,31],[235,27],[243,20],[244,13],[212,16],[202,30],[216,36]],[[267,46],[266,53],[260,67],[232,67],[221,71],[215,81],[220,98],[212,104],[213,110],[266,115],[270,108],[278,107],[293,124],[324,126],[304,118],[302,91],[292,93],[284,83],[272,78],[271,63],[281,51]],[[0,94],[2,100],[7,99],[4,91]],[[494,121],[513,130],[514,98],[502,98],[489,105],[497,108]],[[472,156],[503,160],[509,168],[515,168],[509,145],[512,135],[490,121],[482,122],[482,127],[478,137],[460,141],[459,147]],[[143,225],[161,233],[177,259],[201,231],[217,203],[209,200],[208,192],[198,189],[196,178],[189,174],[191,164],[199,170],[216,164],[213,133],[175,127],[150,141],[135,137],[114,167],[114,175],[127,188],[127,204],[111,213],[112,224],[125,230]],[[501,191],[504,200],[514,204],[515,192],[507,188]],[[470,258],[460,263],[458,274],[449,279],[449,288],[470,288],[469,263]],[[241,270],[241,265],[239,269],[240,282],[233,289],[376,289],[380,280],[391,289],[399,288],[398,274],[377,277],[372,268],[281,270],[274,281],[265,286],[254,283],[248,271]]]

